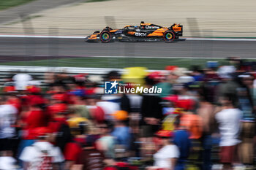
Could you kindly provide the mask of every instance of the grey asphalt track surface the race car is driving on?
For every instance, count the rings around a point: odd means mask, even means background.
[[[255,41],[181,41],[88,43],[83,39],[0,38],[0,61],[62,57],[137,56],[173,58],[256,58]],[[50,58],[49,58],[50,56]]]

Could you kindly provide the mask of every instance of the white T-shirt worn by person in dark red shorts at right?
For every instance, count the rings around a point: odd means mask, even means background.
[[[242,112],[240,109],[223,109],[215,115],[219,123],[219,132],[221,135],[219,145],[233,146],[240,143],[238,139],[240,133],[240,120]]]

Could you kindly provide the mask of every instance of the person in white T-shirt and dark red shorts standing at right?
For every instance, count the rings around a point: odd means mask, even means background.
[[[233,93],[226,93],[222,96],[220,103],[222,111],[215,115],[221,135],[220,161],[224,164],[223,169],[233,169],[232,164],[237,155],[237,146],[241,142],[238,137],[242,112],[236,107],[236,98]]]

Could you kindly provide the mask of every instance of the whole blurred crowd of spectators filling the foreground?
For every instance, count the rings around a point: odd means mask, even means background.
[[[42,88],[15,74],[0,96],[0,169],[254,169],[253,63],[122,77],[48,72]],[[162,93],[106,94],[115,80]]]

